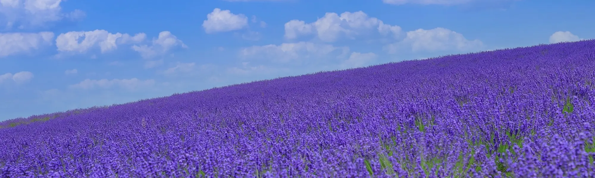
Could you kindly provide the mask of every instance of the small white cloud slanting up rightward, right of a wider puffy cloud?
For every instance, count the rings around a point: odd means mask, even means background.
[[[184,43],[178,39],[176,36],[171,34],[170,31],[161,31],[159,36],[156,39],[153,39],[152,45],[134,45],[132,49],[136,52],[140,53],[145,59],[154,58],[155,56],[165,55],[174,47],[183,47],[186,48],[188,46],[184,45]]]

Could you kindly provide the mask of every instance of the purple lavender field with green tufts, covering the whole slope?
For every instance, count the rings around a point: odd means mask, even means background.
[[[595,40],[0,123],[0,177],[595,177]]]

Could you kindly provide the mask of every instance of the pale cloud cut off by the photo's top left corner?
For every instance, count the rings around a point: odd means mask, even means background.
[[[84,12],[80,9],[63,13],[61,2],[62,0],[2,0],[0,14],[4,16],[3,20],[8,28],[39,27],[64,18],[70,20],[84,18]]]

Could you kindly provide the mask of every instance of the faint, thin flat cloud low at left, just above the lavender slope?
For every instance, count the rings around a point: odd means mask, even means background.
[[[139,88],[144,88],[144,87],[151,87],[152,85],[155,85],[155,80],[139,80],[137,78],[131,78],[131,79],[113,79],[113,80],[107,80],[107,79],[102,79],[102,80],[90,80],[90,79],[86,79],[83,80],[81,82],[79,82],[78,84],[74,84],[74,85],[70,85],[70,88],[74,88],[74,89],[84,89],[84,90],[90,90],[90,89],[95,89],[95,88],[103,88],[103,89],[108,89],[108,88],[114,88],[114,87],[119,87],[119,88],[124,88],[126,90],[137,90]]]

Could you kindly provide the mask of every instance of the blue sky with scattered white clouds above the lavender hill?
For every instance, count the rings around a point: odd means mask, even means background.
[[[0,120],[595,38],[595,1],[0,1]]]

